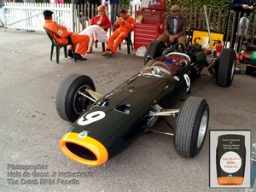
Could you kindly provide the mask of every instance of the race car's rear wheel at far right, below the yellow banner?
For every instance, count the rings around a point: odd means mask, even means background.
[[[236,69],[236,52],[233,49],[223,49],[218,56],[216,66],[216,82],[218,86],[228,87],[232,84]]]

